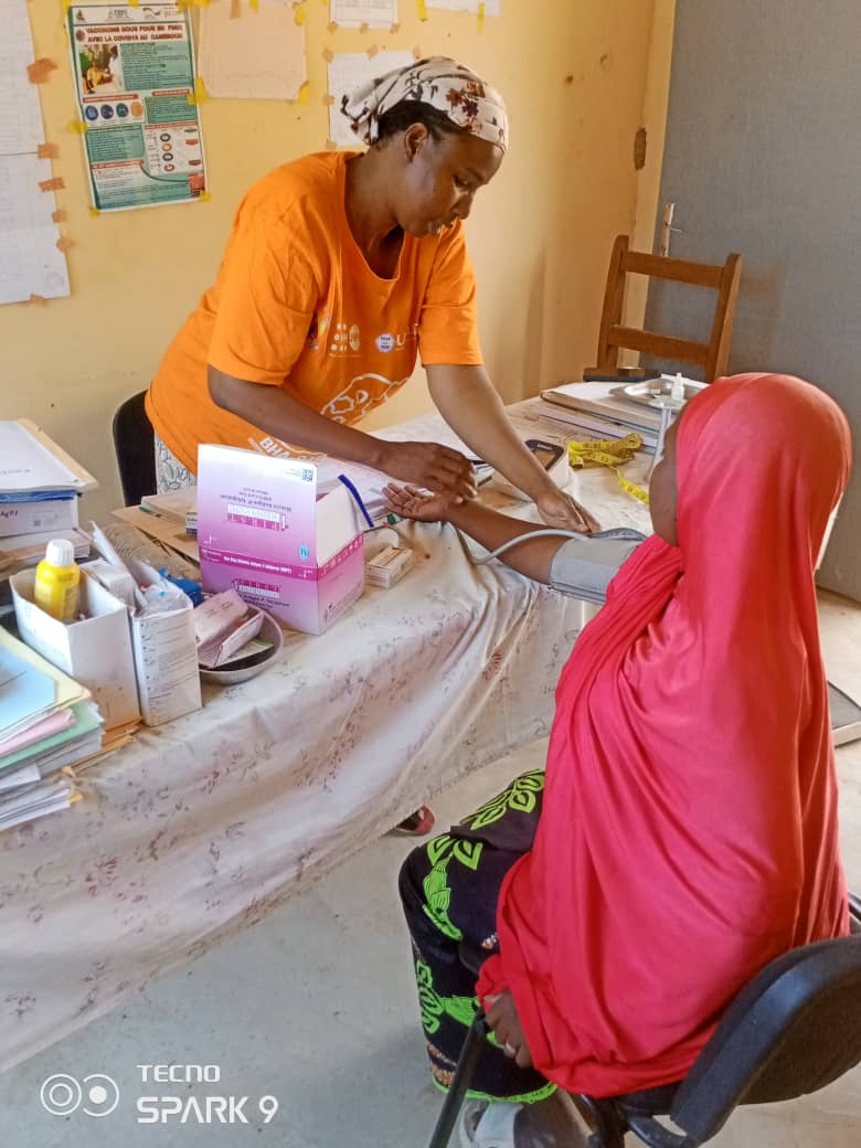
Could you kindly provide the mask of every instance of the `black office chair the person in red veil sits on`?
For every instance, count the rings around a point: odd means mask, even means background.
[[[784,953],[745,985],[683,1080],[608,1099],[575,1096],[595,1130],[589,1148],[623,1148],[628,1132],[650,1148],[698,1148],[739,1104],[793,1100],[854,1068],[861,1061],[861,899],[850,897],[850,912],[853,936]],[[475,970],[486,956],[461,952]],[[449,1142],[487,1031],[479,1013],[429,1148]]]

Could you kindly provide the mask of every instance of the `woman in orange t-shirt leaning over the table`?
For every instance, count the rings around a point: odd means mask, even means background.
[[[169,347],[147,396],[160,489],[193,482],[200,443],[295,448],[472,498],[459,451],[354,427],[417,356],[445,421],[532,497],[545,522],[595,523],[511,426],[476,334],[463,220],[507,146],[499,94],[441,56],[375,79],[341,110],[364,153],[323,153],[256,184],[214,287]]]

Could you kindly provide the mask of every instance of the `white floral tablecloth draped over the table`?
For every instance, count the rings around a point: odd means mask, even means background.
[[[525,437],[560,424],[519,404]],[[398,437],[440,437],[441,421]],[[642,478],[645,463],[634,463]],[[607,526],[647,512],[607,471],[574,490]],[[450,527],[401,523],[417,568],[277,665],[82,777],[85,800],[0,835],[0,1069],[261,920],[444,785],[548,734],[584,604]],[[537,765],[537,762],[536,762]]]

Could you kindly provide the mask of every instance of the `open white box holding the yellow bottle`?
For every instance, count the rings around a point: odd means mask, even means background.
[[[22,641],[86,685],[108,729],[140,719],[129,611],[82,571],[80,610],[88,616],[65,625],[33,602],[36,571],[9,579]]]

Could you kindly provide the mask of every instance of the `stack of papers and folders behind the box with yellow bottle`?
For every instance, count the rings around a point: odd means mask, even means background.
[[[78,496],[95,488],[93,476],[29,419],[0,421],[0,577],[34,566],[52,538],[86,558]]]

